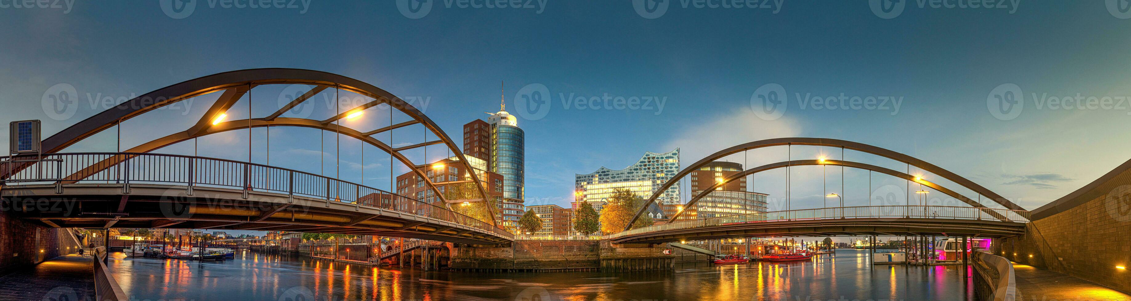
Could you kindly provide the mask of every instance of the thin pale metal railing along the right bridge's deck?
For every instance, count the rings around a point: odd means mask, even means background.
[[[802,220],[863,219],[863,218],[1001,220],[1010,222],[1028,222],[1029,212],[1021,210],[1008,210],[1008,209],[931,206],[931,205],[802,209],[802,210],[736,214],[736,215],[727,215],[727,216],[718,216],[709,219],[697,219],[682,222],[672,222],[672,223],[657,224],[657,225],[622,231],[605,236],[604,238],[616,239],[625,236],[646,233],[653,231],[699,228],[699,227],[719,225],[719,224],[802,221]]]

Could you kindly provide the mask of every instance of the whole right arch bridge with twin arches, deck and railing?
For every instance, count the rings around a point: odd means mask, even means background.
[[[845,160],[787,160],[783,162],[768,163],[759,167],[745,169],[741,172],[728,176],[717,182],[711,187],[696,194],[684,204],[684,207],[694,206],[699,200],[711,192],[718,189],[726,183],[757,172],[785,168],[792,166],[841,166],[856,169],[864,169],[915,182],[924,186],[939,191],[948,196],[955,197],[968,205],[961,206],[930,206],[930,205],[905,205],[905,206],[854,206],[854,207],[827,207],[812,210],[788,210],[778,212],[765,212],[752,214],[739,214],[710,219],[675,222],[684,212],[679,211],[663,224],[630,229],[632,222],[641,218],[647,212],[647,206],[637,211],[636,215],[624,228],[624,231],[606,236],[614,242],[667,242],[679,240],[720,239],[720,238],[744,238],[744,237],[783,237],[783,236],[982,236],[982,237],[1009,237],[1025,232],[1025,222],[1029,221],[1029,212],[1005,200],[1001,195],[986,189],[985,187],[958,176],[949,170],[913,158],[907,154],[895,152],[888,149],[869,145],[858,142],[817,139],[817,138],[782,138],[749,142],[715,152],[677,172],[663,186],[655,189],[646,204],[656,202],[663,193],[672,187],[691,171],[699,169],[711,161],[722,159],[729,154],[768,147],[789,145],[819,145],[851,149],[883,158],[892,159],[924,171],[941,176],[975,193],[986,196],[988,200],[1000,204],[1004,209],[991,209],[981,202],[970,200],[967,196],[956,193],[942,185],[913,176],[906,172],[883,168],[874,165],[853,162]]]

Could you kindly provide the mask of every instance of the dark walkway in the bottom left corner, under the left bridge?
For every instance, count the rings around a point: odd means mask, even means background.
[[[0,276],[0,300],[93,301],[90,256],[68,255]]]

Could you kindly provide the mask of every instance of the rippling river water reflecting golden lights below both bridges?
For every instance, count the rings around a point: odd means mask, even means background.
[[[866,251],[847,249],[620,274],[398,271],[250,251],[204,264],[123,256],[110,268],[132,300],[973,300],[960,266],[870,266]]]

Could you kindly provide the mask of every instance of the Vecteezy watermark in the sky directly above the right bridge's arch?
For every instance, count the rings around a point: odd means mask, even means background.
[[[788,110],[788,98],[782,85],[766,83],[750,96],[750,109],[759,118],[774,121]],[[849,96],[844,92],[824,97],[812,92],[795,92],[794,100],[798,109],[890,110],[891,115],[899,114],[899,107],[904,104],[903,96]]]

